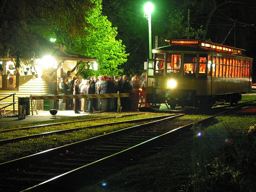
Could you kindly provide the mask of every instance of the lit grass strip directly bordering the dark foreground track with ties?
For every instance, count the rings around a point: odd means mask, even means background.
[[[96,137],[109,132],[125,129],[134,124],[120,124],[113,126],[104,126],[93,129],[83,129],[80,131],[65,133],[62,135],[50,135],[47,137],[23,140],[19,142],[9,143],[0,146],[0,161],[10,161],[23,156],[41,152],[46,149],[56,148],[80,140]]]

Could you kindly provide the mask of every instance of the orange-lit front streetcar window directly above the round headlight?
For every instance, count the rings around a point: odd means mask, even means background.
[[[167,74],[180,74],[181,55],[167,54]]]

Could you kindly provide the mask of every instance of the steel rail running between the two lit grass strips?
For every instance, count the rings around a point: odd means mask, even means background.
[[[184,114],[180,114],[180,115],[184,115]],[[142,121],[152,121],[152,120],[157,120],[157,119],[163,119],[163,118],[166,118],[169,116],[173,116],[173,115],[148,117],[148,118],[143,118],[143,119],[119,121],[119,122],[108,123],[108,124],[98,124],[98,125],[91,125],[91,126],[85,126],[85,127],[77,127],[77,128],[72,128],[72,129],[65,129],[65,130],[60,130],[60,131],[39,133],[39,134],[28,135],[28,136],[23,136],[23,137],[16,137],[16,138],[11,138],[11,139],[0,140],[0,145],[6,144],[6,143],[11,143],[11,142],[16,142],[16,141],[21,141],[21,140],[28,140],[28,139],[49,136],[49,135],[53,135],[53,134],[63,134],[63,133],[75,132],[75,131],[79,131],[82,129],[92,129],[92,128],[96,128],[96,127],[110,126],[110,125],[124,124],[124,123],[138,123],[138,122],[142,122]]]

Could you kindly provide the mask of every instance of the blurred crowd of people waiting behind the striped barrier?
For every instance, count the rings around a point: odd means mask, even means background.
[[[59,95],[78,94],[106,94],[129,93],[129,97],[121,97],[121,108],[124,111],[138,110],[139,96],[146,89],[146,73],[140,77],[137,75],[121,76],[92,76],[88,79],[76,79],[71,77],[70,71],[64,78],[59,78]],[[63,100],[59,100],[59,110],[62,109]],[[96,111],[107,112],[117,109],[117,98],[83,98],[66,99],[66,110],[74,110],[75,113],[93,113]]]

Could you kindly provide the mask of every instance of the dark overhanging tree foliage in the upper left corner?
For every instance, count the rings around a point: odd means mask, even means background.
[[[91,28],[85,19],[93,0],[2,0],[0,3],[0,56],[19,51],[21,57],[39,46],[37,30],[60,28],[68,36],[84,36]]]

